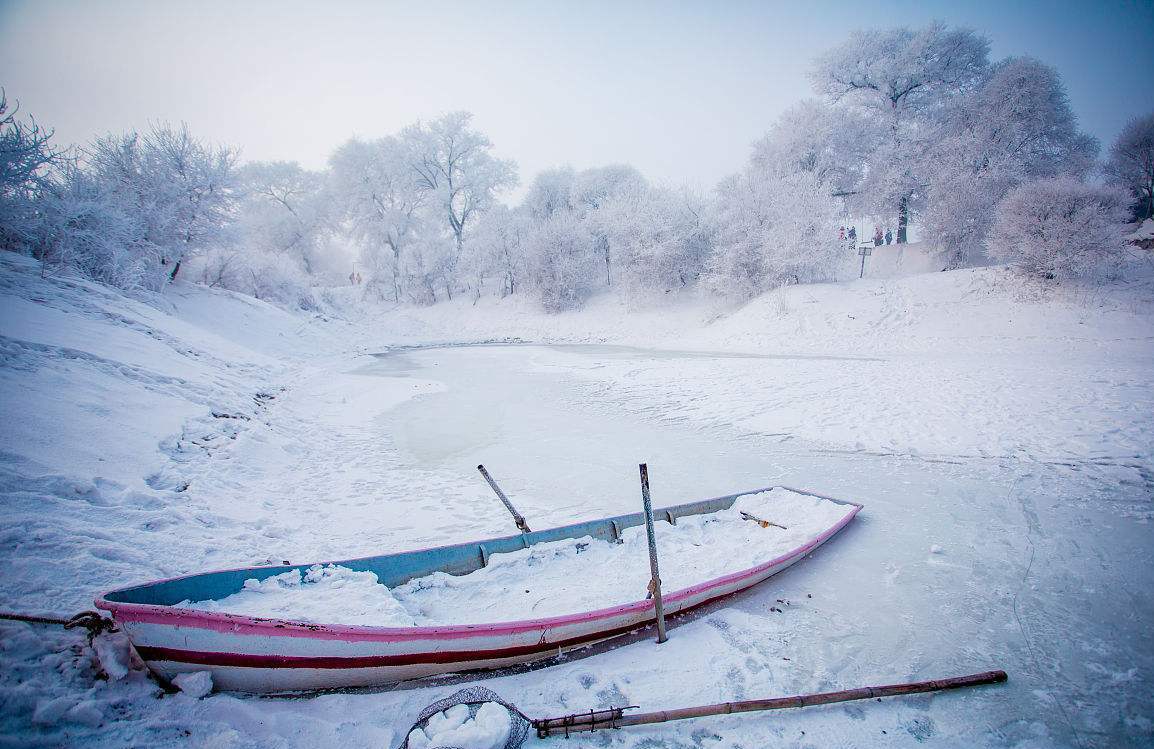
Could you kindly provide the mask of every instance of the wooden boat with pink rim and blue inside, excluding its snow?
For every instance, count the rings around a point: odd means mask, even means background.
[[[769,487],[775,488],[775,487]],[[789,488],[789,487],[780,487]],[[755,489],[654,511],[661,522],[728,509]],[[664,594],[666,615],[677,614],[747,589],[780,572],[827,541],[861,510],[855,502],[789,489],[846,507],[845,515],[804,545],[750,569]],[[437,548],[335,562],[369,570],[394,587],[435,571],[466,575],[492,554],[567,538],[615,540],[623,529],[642,525],[640,512],[546,531]],[[217,600],[241,590],[246,579],[264,579],[309,564],[250,567],[202,572],[110,591],[96,599],[108,611],[141,658],[163,679],[209,671],[217,689],[291,692],[372,687],[452,672],[529,662],[624,635],[654,620],[644,599],[564,616],[500,623],[440,627],[314,624],[177,607],[186,600]]]

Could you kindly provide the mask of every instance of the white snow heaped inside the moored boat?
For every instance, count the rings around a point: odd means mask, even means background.
[[[769,562],[816,539],[852,508],[774,488],[740,497],[732,508],[654,524],[666,593]],[[745,520],[748,512],[770,525]],[[472,624],[576,614],[645,598],[650,581],[644,526],[622,531],[622,542],[590,537],[535,544],[469,575],[434,572],[389,590],[373,572],[313,566],[245,582],[215,601],[179,606],[304,622]]]

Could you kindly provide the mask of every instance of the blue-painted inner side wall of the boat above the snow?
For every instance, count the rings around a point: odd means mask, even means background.
[[[653,519],[658,522],[676,523],[679,517],[687,515],[707,515],[733,507],[737,497],[748,494],[766,492],[764,489],[752,489],[739,494],[714,497],[712,500],[700,500],[685,504],[654,509]],[[787,487],[781,487],[787,488]],[[801,494],[812,494],[800,489],[790,489]],[[822,496],[822,495],[814,495]],[[853,504],[841,500],[825,497],[842,504]],[[449,575],[467,575],[481,569],[488,563],[493,554],[505,554],[518,549],[527,548],[534,544],[544,541],[559,541],[568,538],[584,538],[590,535],[605,541],[616,541],[624,529],[642,525],[645,516],[642,512],[631,515],[619,515],[617,517],[602,518],[548,529],[545,531],[533,531],[532,533],[518,533],[517,535],[505,535],[502,538],[487,539],[482,541],[470,541],[467,544],[456,544],[452,546],[440,546],[436,548],[399,552],[396,554],[383,554],[380,556],[366,556],[353,560],[337,560],[322,562],[324,564],[340,564],[358,571],[370,571],[376,574],[377,579],[389,587],[403,585],[415,577],[424,577],[436,571]],[[156,606],[173,606],[181,601],[192,600],[217,600],[231,596],[241,590],[247,579],[264,579],[273,575],[282,575],[291,570],[305,571],[316,562],[307,564],[270,566],[261,568],[249,568],[239,570],[222,570],[215,572],[202,572],[178,577],[170,581],[145,583],[132,587],[123,587],[105,594],[108,601],[121,604],[151,604]]]

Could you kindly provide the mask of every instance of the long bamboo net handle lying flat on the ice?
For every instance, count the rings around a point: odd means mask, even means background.
[[[810,705],[827,705],[834,702],[849,702],[853,699],[894,697],[898,695],[914,695],[924,691],[946,691],[950,689],[964,689],[966,687],[977,687],[981,684],[997,684],[1004,682],[1005,680],[1006,673],[1004,671],[987,671],[980,674],[969,674],[967,676],[952,676],[950,679],[935,679],[932,681],[919,681],[906,684],[861,687],[859,689],[827,691],[817,695],[775,697],[772,699],[725,702],[715,705],[682,707],[680,710],[661,710],[658,712],[643,712],[634,716],[625,716],[623,714],[624,709],[615,707],[597,712],[576,713],[563,718],[542,718],[534,720],[533,727],[537,728],[537,735],[544,739],[545,736],[557,733],[597,731],[598,728],[624,728],[627,726],[642,726],[645,724],[666,722],[669,720],[684,720],[687,718],[703,718],[705,716],[726,716],[737,712],[784,710],[786,707],[808,707]]]

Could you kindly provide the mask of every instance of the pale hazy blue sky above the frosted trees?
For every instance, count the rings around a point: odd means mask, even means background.
[[[313,168],[350,136],[467,110],[518,163],[510,197],[567,164],[710,188],[855,29],[939,20],[984,33],[994,59],[1039,58],[1104,145],[1154,110],[1154,0],[801,6],[0,0],[0,85],[61,143],[185,121]]]

